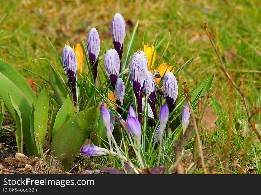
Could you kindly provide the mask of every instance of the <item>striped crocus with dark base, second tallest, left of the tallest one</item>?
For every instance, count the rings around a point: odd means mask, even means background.
[[[93,76],[94,80],[97,77],[97,68],[98,68],[98,56],[100,53],[100,37],[96,28],[91,28],[86,41],[87,53],[89,56],[90,64],[93,67]],[[96,61],[97,60],[97,61]]]

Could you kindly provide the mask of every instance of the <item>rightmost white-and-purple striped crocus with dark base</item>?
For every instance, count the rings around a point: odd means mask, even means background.
[[[174,109],[178,96],[178,82],[174,74],[170,71],[166,72],[163,81],[163,95],[170,110]]]

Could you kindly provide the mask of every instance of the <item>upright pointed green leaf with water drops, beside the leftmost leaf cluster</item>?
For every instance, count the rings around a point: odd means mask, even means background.
[[[48,110],[49,110],[49,93],[46,84],[44,84],[42,91],[36,100],[36,104],[34,108],[34,140],[39,155],[41,154],[40,153],[41,148],[40,145],[38,144],[37,139],[43,145],[46,130],[47,130]]]

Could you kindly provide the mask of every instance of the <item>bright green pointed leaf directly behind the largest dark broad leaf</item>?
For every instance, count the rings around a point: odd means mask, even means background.
[[[72,103],[69,94],[67,94],[67,98],[63,103],[62,107],[58,110],[57,115],[55,117],[55,122],[52,128],[52,137],[58,131],[58,129],[69,119],[75,112],[74,104]]]

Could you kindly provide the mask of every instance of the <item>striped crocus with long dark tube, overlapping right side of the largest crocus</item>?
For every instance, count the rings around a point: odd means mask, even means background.
[[[157,113],[155,107],[157,102],[157,97],[156,97],[157,87],[156,87],[155,79],[149,70],[147,70],[147,76],[145,77],[143,87],[144,87],[145,95],[149,94],[149,105],[151,106],[153,111],[152,118],[157,119]]]

